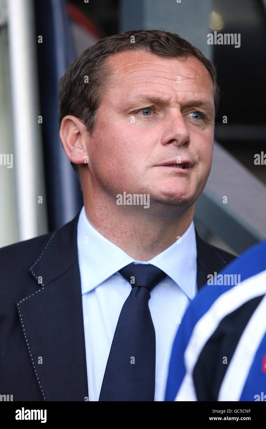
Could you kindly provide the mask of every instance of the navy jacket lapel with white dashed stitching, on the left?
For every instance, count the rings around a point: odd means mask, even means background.
[[[30,269],[36,291],[17,303],[38,385],[47,401],[88,397],[77,254],[79,214],[51,236]]]

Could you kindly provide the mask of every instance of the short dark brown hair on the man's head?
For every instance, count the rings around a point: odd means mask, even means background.
[[[134,43],[132,43],[134,36]],[[83,53],[65,70],[59,82],[59,124],[66,115],[79,118],[93,133],[101,95],[109,82],[110,70],[106,57],[121,51],[139,49],[163,57],[192,55],[204,64],[213,81],[215,112],[219,106],[220,90],[216,69],[198,48],[178,34],[164,30],[130,30],[105,37]],[[86,77],[86,85],[83,85]],[[76,164],[71,163],[78,172]]]

